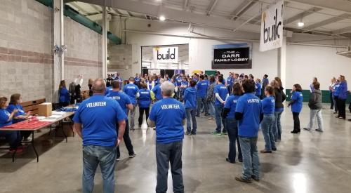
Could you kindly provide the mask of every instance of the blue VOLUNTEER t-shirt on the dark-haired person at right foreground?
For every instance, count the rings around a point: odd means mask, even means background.
[[[263,113],[260,99],[252,93],[245,93],[238,99],[235,112],[243,114],[243,118],[238,123],[239,136],[257,137],[258,128],[260,127],[260,114]]]

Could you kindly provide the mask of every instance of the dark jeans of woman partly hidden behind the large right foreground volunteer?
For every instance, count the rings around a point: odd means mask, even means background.
[[[238,143],[238,159],[242,160],[242,154],[240,149],[239,135],[238,135],[238,122],[234,118],[225,119],[225,128],[228,132],[229,138],[229,153],[228,159],[231,162],[235,162],[235,157],[237,155],[237,147],[235,147],[235,142]]]

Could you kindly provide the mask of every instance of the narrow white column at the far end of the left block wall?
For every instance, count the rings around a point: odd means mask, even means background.
[[[101,40],[102,79],[106,79],[107,77],[107,29],[108,29],[108,21],[106,17],[106,6],[102,6],[102,40]]]

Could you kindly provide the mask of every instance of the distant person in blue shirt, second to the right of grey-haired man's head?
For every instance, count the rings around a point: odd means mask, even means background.
[[[208,88],[208,82],[204,80],[204,75],[200,76],[200,81],[197,82],[197,112],[196,116],[200,117],[201,108],[204,108],[205,117],[208,117],[208,107],[206,102],[206,94]]]

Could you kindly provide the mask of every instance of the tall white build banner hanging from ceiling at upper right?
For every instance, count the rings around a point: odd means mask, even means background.
[[[262,13],[260,51],[269,51],[283,45],[284,1],[279,1]]]

